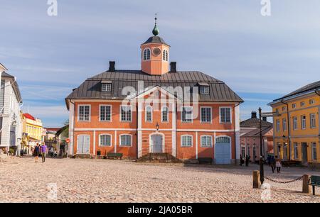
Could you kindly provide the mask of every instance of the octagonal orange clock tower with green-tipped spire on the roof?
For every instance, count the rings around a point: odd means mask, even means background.
[[[151,36],[145,43],[141,45],[142,60],[141,67],[142,72],[151,75],[162,75],[169,72],[169,48],[170,46],[159,37],[159,29],[156,26],[156,20],[154,23],[154,30]]]

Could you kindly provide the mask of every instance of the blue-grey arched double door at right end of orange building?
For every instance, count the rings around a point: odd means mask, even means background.
[[[230,165],[230,148],[230,138],[220,137],[215,140],[215,163],[217,165]]]

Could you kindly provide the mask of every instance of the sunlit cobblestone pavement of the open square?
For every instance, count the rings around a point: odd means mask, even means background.
[[[252,189],[250,167],[161,165],[119,160],[9,158],[0,162],[1,202],[262,202]],[[302,168],[282,168],[279,180],[317,174]],[[300,193],[302,181],[271,184],[267,202],[320,202],[319,193]],[[58,189],[55,194],[54,189]],[[316,189],[318,192],[319,188]]]

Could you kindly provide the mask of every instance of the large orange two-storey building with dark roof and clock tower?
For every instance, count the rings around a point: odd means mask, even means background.
[[[140,47],[140,70],[116,70],[110,62],[109,70],[65,99],[69,155],[169,153],[182,160],[234,162],[240,157],[242,99],[207,74],[177,71],[156,25],[153,34]]]

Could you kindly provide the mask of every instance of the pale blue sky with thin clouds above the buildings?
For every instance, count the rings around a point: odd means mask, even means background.
[[[160,36],[178,70],[199,70],[226,82],[243,99],[241,118],[320,78],[320,1],[0,0],[0,62],[18,78],[23,111],[62,126],[64,98],[87,77],[140,69],[139,45],[158,13]]]

